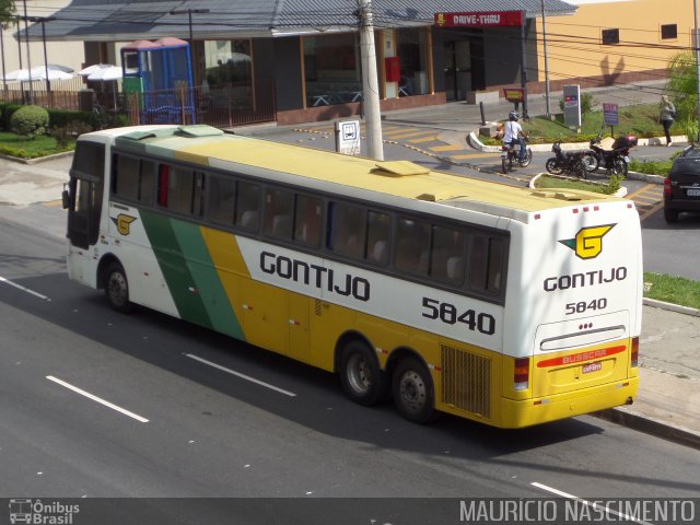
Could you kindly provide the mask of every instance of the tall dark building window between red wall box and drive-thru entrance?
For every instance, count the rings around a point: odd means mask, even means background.
[[[397,39],[397,56],[401,68],[399,96],[429,93],[428,30],[399,30]]]

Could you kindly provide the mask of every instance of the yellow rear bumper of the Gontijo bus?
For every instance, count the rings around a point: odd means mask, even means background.
[[[526,400],[503,399],[498,427],[520,429],[559,419],[583,416],[606,408],[631,405],[639,389],[639,377]]]

